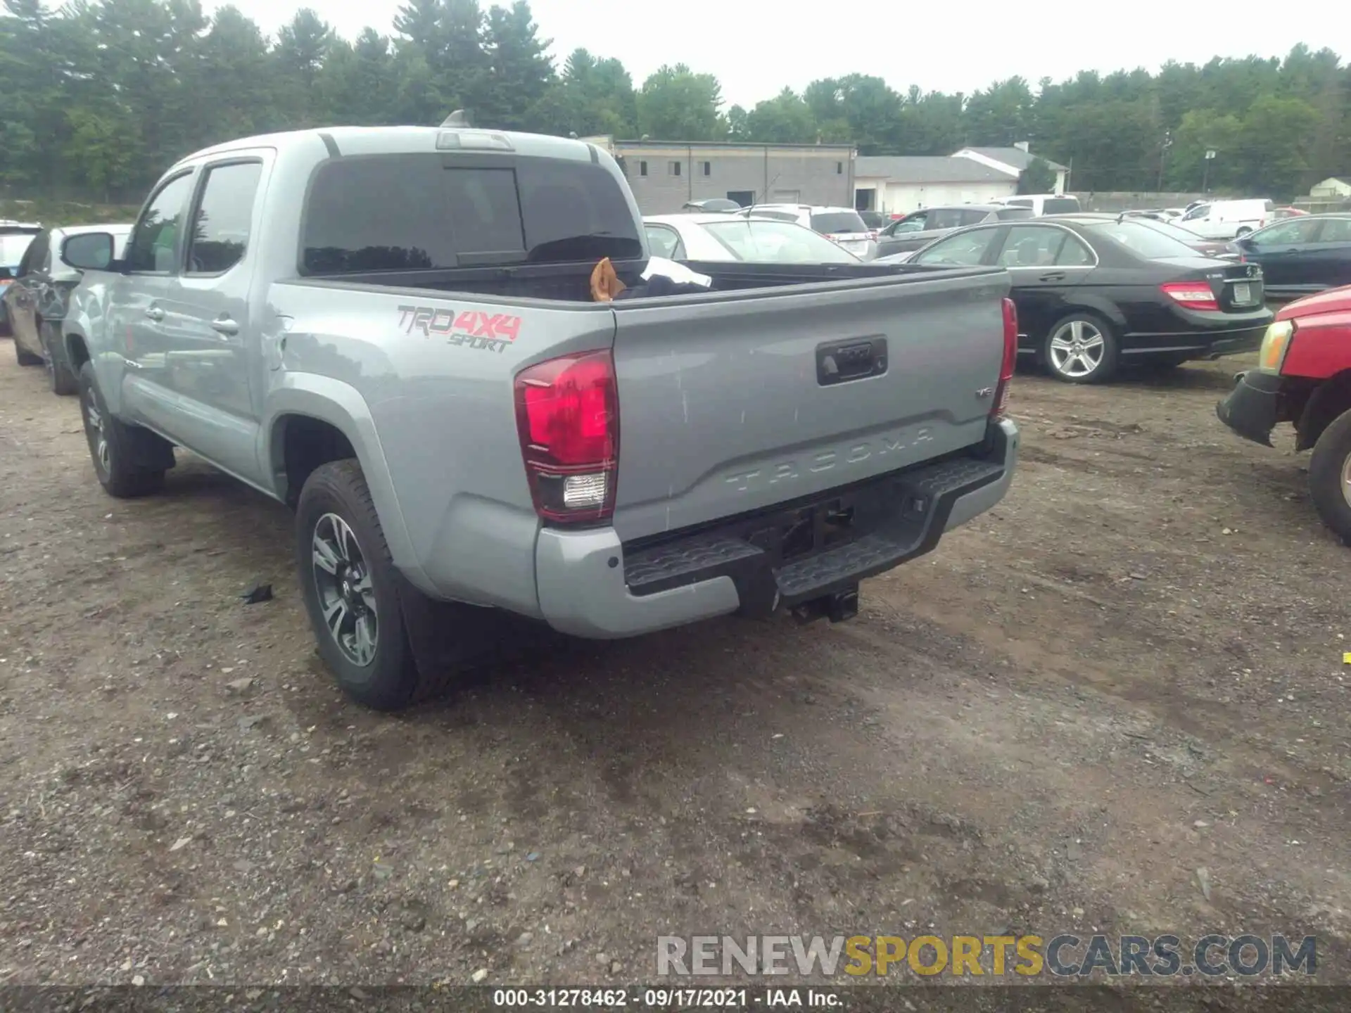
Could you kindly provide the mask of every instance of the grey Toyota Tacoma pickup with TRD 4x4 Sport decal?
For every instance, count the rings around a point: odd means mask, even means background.
[[[585,638],[846,619],[1017,455],[1004,270],[693,263],[709,290],[594,303],[600,258],[634,286],[648,251],[581,140],[236,140],[109,255],[62,326],[99,481],[158,490],[181,447],[295,506],[320,652],[374,708],[470,663],[493,611]]]

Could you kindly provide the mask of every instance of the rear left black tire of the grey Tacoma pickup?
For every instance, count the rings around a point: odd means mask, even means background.
[[[330,546],[340,544],[332,517],[346,524],[355,547],[338,555],[335,571],[323,570],[322,585],[315,544],[316,539]],[[399,573],[389,555],[370,489],[355,461],[320,465],[300,490],[296,504],[296,570],[319,654],[347,696],[376,710],[400,710],[423,696],[419,692],[423,687],[419,685],[417,662],[404,625]],[[369,592],[358,590],[367,581]],[[332,612],[339,605],[340,615]],[[338,620],[338,633],[330,628],[326,606],[330,616]],[[361,632],[362,623],[365,635]],[[358,638],[362,640],[358,642]],[[369,660],[361,663],[367,651]]]

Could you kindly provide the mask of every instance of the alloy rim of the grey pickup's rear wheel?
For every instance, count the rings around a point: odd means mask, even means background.
[[[315,590],[328,635],[353,665],[366,667],[376,660],[380,616],[357,535],[336,513],[326,513],[315,521],[312,548]]]

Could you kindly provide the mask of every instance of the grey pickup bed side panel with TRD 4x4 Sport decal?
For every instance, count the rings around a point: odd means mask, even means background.
[[[400,567],[442,597],[536,615],[539,519],[513,378],[547,358],[609,348],[613,311],[322,281],[277,282],[269,303],[289,320],[266,397],[274,467],[270,420],[350,389],[353,442],[388,467],[377,509],[407,531]]]

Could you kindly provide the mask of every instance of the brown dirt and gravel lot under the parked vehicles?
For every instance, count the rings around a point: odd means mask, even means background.
[[[3,982],[650,982],[658,933],[920,929],[1317,932],[1347,978],[1351,550],[1215,419],[1240,363],[1019,377],[1006,502],[852,623],[385,717],[316,667],[286,511],[190,459],[108,498],[4,346]]]

